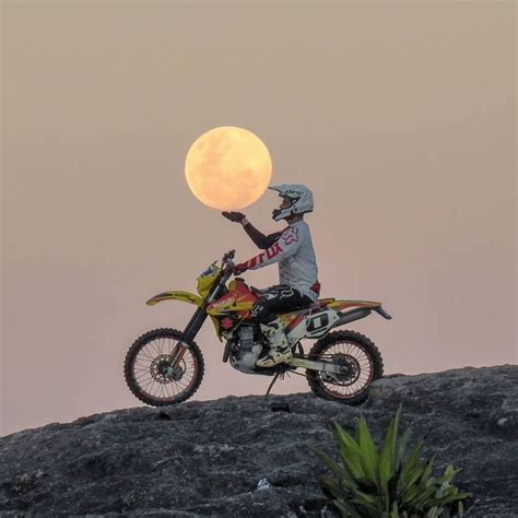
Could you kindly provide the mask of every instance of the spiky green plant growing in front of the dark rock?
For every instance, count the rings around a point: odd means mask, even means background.
[[[335,475],[334,479],[319,476],[323,492],[343,517],[463,516],[462,501],[471,493],[459,493],[451,485],[460,469],[449,464],[442,476],[432,476],[435,456],[427,461],[421,460],[423,440],[409,454],[409,431],[398,437],[400,414],[401,405],[387,428],[379,450],[363,417],[356,423],[356,438],[333,421],[339,462],[307,444]]]

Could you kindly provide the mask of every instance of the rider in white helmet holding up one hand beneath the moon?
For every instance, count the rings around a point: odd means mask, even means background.
[[[229,221],[240,223],[251,240],[266,250],[236,264],[235,274],[279,262],[280,284],[261,290],[261,296],[255,302],[251,311],[270,345],[266,355],[256,362],[258,367],[271,367],[293,357],[278,314],[309,306],[320,294],[311,235],[304,221],[304,214],[314,209],[313,193],[306,186],[297,184],[282,184],[269,189],[278,191],[282,198],[280,208],[272,212],[274,221],[285,220],[289,224],[280,232],[266,236],[243,212],[222,212]]]

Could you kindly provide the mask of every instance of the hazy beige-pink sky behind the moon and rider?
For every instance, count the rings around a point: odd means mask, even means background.
[[[516,363],[515,2],[1,5],[0,435],[141,405],[126,351],[193,310],[144,302],[256,252],[185,180],[219,126],[262,139],[272,183],[313,189],[321,296],[384,303],[392,320],[348,328],[387,374]],[[246,212],[273,232],[278,203]],[[210,321],[197,342],[195,399],[266,392],[221,362]]]

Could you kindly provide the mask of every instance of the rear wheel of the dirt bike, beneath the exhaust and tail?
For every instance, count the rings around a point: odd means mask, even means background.
[[[355,331],[327,334],[311,348],[308,360],[325,360],[344,367],[344,374],[306,369],[306,379],[319,398],[345,404],[363,403],[368,397],[368,386],[384,375],[378,349]]]

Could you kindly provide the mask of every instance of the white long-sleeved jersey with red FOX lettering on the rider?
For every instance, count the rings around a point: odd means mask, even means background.
[[[311,290],[318,282],[318,267],[309,226],[304,220],[287,226],[273,245],[246,261],[246,266],[248,270],[257,270],[274,262],[279,262],[280,284],[318,299],[318,293]]]

